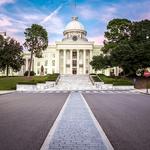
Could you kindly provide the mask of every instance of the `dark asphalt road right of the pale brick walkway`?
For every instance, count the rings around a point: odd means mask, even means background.
[[[84,94],[115,150],[150,150],[150,96]]]

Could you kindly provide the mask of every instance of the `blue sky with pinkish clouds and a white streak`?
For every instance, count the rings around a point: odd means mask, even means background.
[[[24,42],[25,28],[41,24],[49,43],[59,41],[72,16],[78,16],[89,40],[102,44],[107,23],[113,18],[150,19],[150,0],[0,0],[0,31]]]

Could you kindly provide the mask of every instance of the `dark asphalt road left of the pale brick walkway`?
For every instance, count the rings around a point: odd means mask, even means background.
[[[68,94],[0,95],[0,149],[39,150]]]

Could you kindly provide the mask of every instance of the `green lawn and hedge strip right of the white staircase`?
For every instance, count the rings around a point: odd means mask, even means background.
[[[129,80],[128,78],[123,78],[123,77],[108,77],[103,74],[98,74],[100,79],[105,83],[105,84],[113,84],[114,86],[116,85],[133,85],[133,82]]]

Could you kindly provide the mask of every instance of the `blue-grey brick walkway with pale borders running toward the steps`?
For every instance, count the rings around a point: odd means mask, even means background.
[[[79,92],[72,92],[41,150],[113,150]]]

